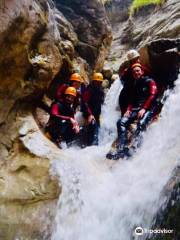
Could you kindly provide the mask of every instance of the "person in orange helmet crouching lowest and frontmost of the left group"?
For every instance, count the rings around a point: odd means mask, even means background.
[[[79,124],[74,118],[74,101],[77,91],[74,87],[67,87],[63,97],[51,105],[50,120],[47,131],[52,139],[59,145],[63,140],[67,144],[72,142],[79,134]]]

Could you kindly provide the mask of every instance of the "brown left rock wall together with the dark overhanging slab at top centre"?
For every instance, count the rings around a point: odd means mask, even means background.
[[[80,5],[71,22],[45,0],[0,1],[0,239],[50,239],[61,186],[49,170],[59,149],[41,133],[35,107],[55,76],[100,67],[111,39],[103,6]]]

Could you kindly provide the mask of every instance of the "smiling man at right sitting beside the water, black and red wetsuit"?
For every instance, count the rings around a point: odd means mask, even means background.
[[[135,63],[131,66],[134,78],[134,86],[132,90],[132,98],[122,118],[117,122],[118,130],[118,154],[120,156],[128,156],[128,127],[134,121],[137,121],[137,130],[135,136],[140,131],[145,130],[147,124],[153,117],[153,105],[157,96],[156,82],[149,76],[144,74],[141,64]]]

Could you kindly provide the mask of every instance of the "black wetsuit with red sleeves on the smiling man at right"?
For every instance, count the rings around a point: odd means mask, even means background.
[[[145,129],[149,121],[152,119],[153,112],[152,107],[157,94],[157,86],[154,80],[148,76],[143,76],[136,80],[135,86],[133,88],[133,96],[131,97],[131,103],[128,106],[131,114],[129,117],[122,117],[117,122],[118,129],[118,141],[119,148],[124,149],[128,144],[127,130],[131,123],[135,120],[138,121],[137,131],[142,131]],[[141,109],[145,109],[146,113],[141,119],[137,119],[138,112]]]

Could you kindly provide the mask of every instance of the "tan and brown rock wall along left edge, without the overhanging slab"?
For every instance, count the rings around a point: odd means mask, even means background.
[[[1,239],[35,239],[50,233],[55,215],[50,208],[55,209],[61,190],[49,174],[48,156],[37,156],[22,138],[29,136],[30,141],[29,134],[39,131],[33,107],[62,65],[48,17],[46,4],[0,2]],[[36,55],[44,59],[34,64]],[[31,124],[22,134],[20,129],[27,124],[24,117],[31,117]],[[46,221],[38,216],[43,214]]]

